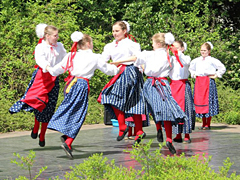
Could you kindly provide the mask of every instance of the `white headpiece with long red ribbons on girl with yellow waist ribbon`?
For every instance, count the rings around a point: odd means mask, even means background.
[[[66,67],[62,67],[66,72],[68,70],[69,76],[71,76],[71,71],[73,70],[73,59],[77,53],[77,44],[80,40],[83,38],[83,33],[79,31],[75,31],[71,34],[71,39],[73,41],[73,45],[71,47],[71,54],[68,57],[67,65]]]

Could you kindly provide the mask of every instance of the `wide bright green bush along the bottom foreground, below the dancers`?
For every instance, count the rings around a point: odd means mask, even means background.
[[[125,168],[116,166],[114,160],[108,161],[102,154],[94,154],[83,163],[70,167],[71,171],[66,172],[65,179],[240,179],[235,173],[228,174],[233,164],[227,158],[223,166],[219,168],[219,173],[209,166],[209,159],[199,157],[163,156],[161,154],[162,145],[155,151],[151,151],[152,141],[140,144],[132,150],[125,150],[135,159],[140,170],[132,167]],[[55,179],[59,179],[56,177]]]

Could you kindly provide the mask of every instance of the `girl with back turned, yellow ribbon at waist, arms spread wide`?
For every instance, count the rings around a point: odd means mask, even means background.
[[[48,124],[48,128],[59,131],[63,144],[61,147],[69,158],[72,156],[71,144],[76,138],[82,127],[87,109],[89,79],[94,75],[96,69],[101,70],[107,75],[115,75],[118,68],[114,65],[105,63],[101,55],[92,52],[92,38],[81,32],[74,32],[71,35],[74,44],[69,53],[61,63],[54,67],[48,67],[47,70],[57,76],[69,71],[74,78],[65,88],[65,98]],[[77,48],[79,49],[77,52]]]

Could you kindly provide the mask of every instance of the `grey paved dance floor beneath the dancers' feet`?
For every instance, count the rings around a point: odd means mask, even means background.
[[[218,171],[219,166],[223,165],[223,161],[230,157],[231,161],[234,162],[230,173],[240,174],[240,126],[212,124],[210,131],[198,130],[198,127],[200,127],[199,123],[196,124],[196,130],[191,134],[191,144],[174,143],[177,155],[184,152],[186,156],[203,153],[207,157],[212,156],[210,165],[216,171]],[[145,142],[153,139],[151,150],[158,148],[155,125],[152,124],[144,128],[144,131],[147,134]],[[73,160],[69,160],[60,147],[60,133],[48,130],[44,148],[38,145],[38,139],[31,139],[30,133],[30,131],[24,131],[0,134],[0,179],[15,179],[19,175],[28,177],[28,172],[11,163],[11,160],[16,159],[13,156],[14,152],[26,156],[30,150],[36,152],[33,174],[38,172],[41,167],[48,166],[47,170],[38,178],[39,180],[55,176],[63,177],[64,173],[69,171],[69,166],[82,163],[83,160],[95,153],[103,153],[104,157],[109,160],[115,159],[118,165],[139,168],[138,163],[132,160],[128,153],[123,152],[124,149],[131,148],[133,141],[116,141],[117,127],[105,126],[104,124],[84,125],[73,142]],[[161,152],[165,156],[170,155],[166,147],[163,147]]]

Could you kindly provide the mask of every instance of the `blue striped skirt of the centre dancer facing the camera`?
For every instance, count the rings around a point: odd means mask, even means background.
[[[123,111],[125,117],[134,114],[146,114],[145,99],[143,96],[143,75],[137,67],[126,66],[117,81],[102,91],[101,104],[116,119],[112,106]]]

